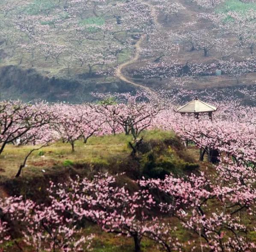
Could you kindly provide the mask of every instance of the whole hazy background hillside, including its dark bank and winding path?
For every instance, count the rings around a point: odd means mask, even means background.
[[[255,24],[242,24],[247,30],[239,45],[239,34],[214,18],[230,11],[246,18],[254,3],[226,0],[209,8],[207,1],[179,0],[168,9],[167,3],[153,1],[136,1],[133,8],[118,1],[82,2],[1,3],[1,99],[75,102],[90,101],[90,92],[130,92],[143,86],[173,89],[182,83],[197,90],[255,85],[255,65],[234,65],[240,68],[239,79],[230,68],[231,59],[253,62],[255,38],[247,34],[253,34]],[[198,37],[200,33],[205,35]],[[181,75],[186,65],[190,70]],[[222,76],[214,76],[216,68],[223,69]]]

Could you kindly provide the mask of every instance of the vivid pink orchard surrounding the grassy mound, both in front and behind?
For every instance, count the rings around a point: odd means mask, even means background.
[[[252,94],[253,90],[248,92]],[[175,113],[172,101],[177,93],[94,95],[98,101],[92,104],[1,102],[2,149],[10,143],[32,144],[39,149],[63,141],[75,151],[78,139],[86,142],[92,135],[124,132],[133,135],[130,146],[136,156],[143,130],[160,128],[173,130],[185,144],[193,142],[201,149],[200,160],[205,153],[209,157],[217,151],[215,173],[185,177],[170,174],[163,180],[142,178],[134,181],[138,189],[133,193],[120,187],[116,177],[99,174],[92,180],[51,183],[46,205],[22,197],[1,199],[3,243],[13,238],[15,222],[24,243],[36,251],[89,249],[93,235],[84,236],[81,229],[87,220],[97,223],[103,231],[132,237],[136,252],[140,251],[143,237],[167,252],[182,252],[185,248],[209,252],[255,249],[247,237],[253,230],[243,222],[253,221],[256,214],[255,107],[239,105],[235,100],[219,101],[211,121],[208,115],[198,120]],[[174,224],[174,219],[181,226]],[[179,240],[175,231],[180,228],[193,232],[194,240],[200,242]]]

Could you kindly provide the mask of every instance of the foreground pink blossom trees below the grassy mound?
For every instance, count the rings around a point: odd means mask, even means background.
[[[22,196],[0,199],[0,241],[15,238],[15,223],[22,246],[32,251],[89,251],[94,235],[83,228],[93,222],[105,232],[131,237],[135,252],[145,238],[166,252],[251,252],[255,181],[255,166],[229,159],[212,176],[134,181],[135,192],[107,174],[51,183],[47,204]]]

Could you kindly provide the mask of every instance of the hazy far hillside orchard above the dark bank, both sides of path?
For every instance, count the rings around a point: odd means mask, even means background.
[[[62,74],[72,71],[86,72],[89,77],[120,77],[116,68],[129,61],[135,48],[135,59],[142,61],[135,72],[147,78],[198,77],[218,69],[239,83],[242,75],[255,71],[252,5],[243,12],[220,11],[222,0],[194,0],[200,6],[199,13],[188,22],[184,16],[190,6],[170,0],[2,2],[0,44],[8,59],[19,65],[51,65]],[[186,21],[181,19],[179,29],[172,28],[173,17],[180,16]],[[185,62],[180,58],[196,51],[201,60],[187,62],[190,71],[184,74],[181,68]],[[202,59],[206,56],[213,57],[210,66]]]

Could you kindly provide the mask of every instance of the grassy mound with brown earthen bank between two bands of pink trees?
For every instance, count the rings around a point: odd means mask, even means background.
[[[18,179],[14,176],[19,164],[33,146],[8,145],[0,157],[0,187],[9,195],[40,200],[50,180],[62,182],[69,176],[125,172],[119,183],[132,187],[132,180],[138,178],[163,178],[170,172],[184,175],[198,168],[196,159],[172,132],[144,131],[143,138],[144,147],[135,158],[128,145],[132,136],[125,134],[94,136],[86,144],[77,141],[73,153],[71,145],[57,142],[35,151]]]

